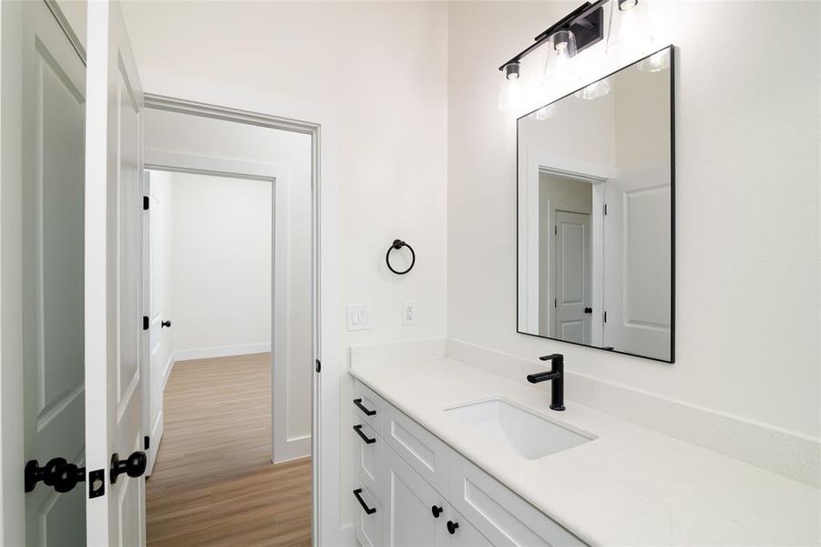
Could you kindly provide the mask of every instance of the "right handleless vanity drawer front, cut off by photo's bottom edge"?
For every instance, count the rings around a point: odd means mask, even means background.
[[[585,545],[456,451],[448,475],[448,501],[493,545]]]

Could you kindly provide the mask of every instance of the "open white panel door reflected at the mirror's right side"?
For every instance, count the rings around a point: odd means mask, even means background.
[[[604,186],[604,346],[670,359],[670,173],[648,170]]]

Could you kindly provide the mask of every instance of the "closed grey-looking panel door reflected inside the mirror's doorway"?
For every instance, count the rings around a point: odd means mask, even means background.
[[[556,212],[553,337],[590,344],[590,215]]]

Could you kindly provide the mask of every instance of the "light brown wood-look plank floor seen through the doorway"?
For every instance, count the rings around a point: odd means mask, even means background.
[[[271,463],[270,359],[174,366],[146,482],[151,547],[311,543],[311,459]]]

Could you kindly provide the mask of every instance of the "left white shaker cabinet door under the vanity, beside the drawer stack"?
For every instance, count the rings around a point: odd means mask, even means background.
[[[446,545],[445,498],[434,490],[393,449],[385,447],[385,545],[433,547]],[[438,511],[434,511],[434,508]],[[434,516],[434,513],[438,517]]]

